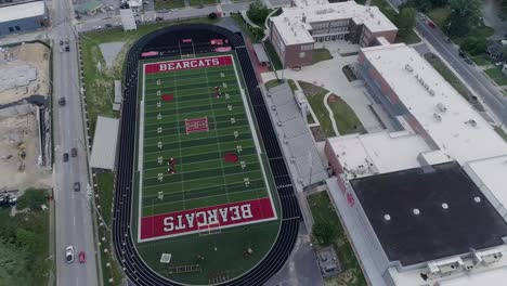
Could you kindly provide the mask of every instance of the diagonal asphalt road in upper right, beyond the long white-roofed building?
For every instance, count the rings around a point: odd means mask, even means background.
[[[426,21],[417,18],[416,28],[422,37],[430,43],[444,60],[451,64],[453,69],[459,74],[465,82],[486,103],[497,119],[507,123],[507,99],[497,87],[490,82],[474,65],[469,65],[463,61],[458,50],[443,40],[445,35],[438,28],[431,28]]]

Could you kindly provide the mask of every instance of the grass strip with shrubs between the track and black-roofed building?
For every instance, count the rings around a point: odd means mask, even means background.
[[[327,193],[321,192],[309,196],[308,204],[310,205],[314,222],[329,223],[337,233],[337,236],[333,242],[333,247],[336,250],[343,272],[341,272],[337,277],[326,280],[326,282],[330,283],[335,280],[344,280],[344,284],[342,282],[341,284],[336,285],[366,286],[366,280],[364,278],[359,261],[355,258],[352,246],[350,245],[343,226],[338,219],[335,207],[330,203]]]

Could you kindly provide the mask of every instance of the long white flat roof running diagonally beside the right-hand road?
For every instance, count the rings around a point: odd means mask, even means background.
[[[461,165],[507,155],[490,123],[414,49],[377,46],[363,55],[446,155]]]

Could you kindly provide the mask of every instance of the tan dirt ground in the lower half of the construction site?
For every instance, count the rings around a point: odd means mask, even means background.
[[[50,167],[38,165],[39,135],[35,114],[0,120],[0,191],[51,187]]]

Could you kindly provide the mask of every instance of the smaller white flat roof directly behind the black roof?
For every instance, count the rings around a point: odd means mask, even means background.
[[[329,138],[328,143],[348,179],[419,167],[417,156],[430,151],[420,135],[410,132],[350,134]]]

